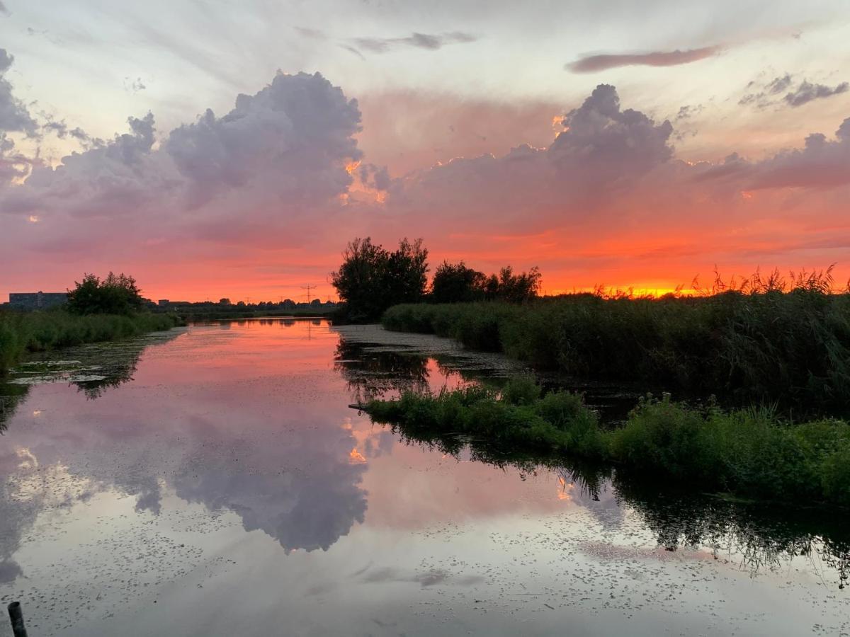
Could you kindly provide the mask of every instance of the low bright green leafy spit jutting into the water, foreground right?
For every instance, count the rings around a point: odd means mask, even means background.
[[[610,463],[624,475],[699,491],[850,506],[850,425],[843,420],[790,424],[769,409],[694,409],[647,397],[622,426],[606,428],[580,396],[542,394],[526,378],[501,392],[405,392],[365,409],[418,439],[457,434],[495,448]]]

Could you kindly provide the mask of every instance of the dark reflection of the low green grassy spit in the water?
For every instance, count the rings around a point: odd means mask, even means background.
[[[393,426],[392,430],[407,444],[457,459],[468,454],[476,462],[514,467],[522,478],[555,471],[560,482],[570,485],[571,493],[586,504],[598,503],[600,494],[609,494],[619,510],[617,516],[621,517],[626,507],[636,511],[655,535],[658,546],[666,551],[707,550],[715,559],[728,555],[740,560],[740,567],[752,575],[779,571],[792,558],[804,556],[813,562],[822,561],[833,573],[833,583],[839,589],[850,578],[850,530],[844,511],[729,501],[680,492],[669,484],[654,484],[610,467],[565,464],[563,457],[541,454],[513,454],[470,437],[422,431],[414,434],[405,431],[404,426]],[[600,519],[604,525],[610,522],[611,508]],[[598,511],[598,507],[594,510]]]

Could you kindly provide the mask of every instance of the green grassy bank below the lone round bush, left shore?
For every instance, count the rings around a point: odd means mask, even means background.
[[[26,356],[95,341],[169,330],[179,324],[172,314],[139,313],[129,316],[92,314],[79,316],[63,311],[0,313],[0,374]]]

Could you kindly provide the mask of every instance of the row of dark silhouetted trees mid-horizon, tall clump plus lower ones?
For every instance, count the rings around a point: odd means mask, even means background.
[[[331,283],[344,303],[344,318],[364,322],[380,318],[399,303],[501,301],[523,303],[536,298],[539,268],[514,273],[511,266],[487,275],[465,262],[442,262],[428,282],[428,249],[421,239],[399,241],[389,251],[371,237],[354,239],[343,251],[343,263]]]

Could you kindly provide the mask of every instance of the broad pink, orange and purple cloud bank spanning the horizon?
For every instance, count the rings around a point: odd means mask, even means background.
[[[540,118],[542,137],[549,112],[544,104],[517,116]],[[454,113],[461,127],[476,122]],[[492,127],[506,113],[482,119]],[[449,130],[440,116],[423,117]],[[0,187],[0,289],[62,290],[84,271],[116,269],[156,297],[271,299],[303,283],[330,296],[327,273],[345,243],[365,235],[387,244],[422,236],[433,262],[540,265],[550,291],[672,287],[715,264],[749,273],[850,256],[847,121],[834,138],[813,134],[762,161],[733,154],[719,164],[678,160],[672,123],[622,108],[608,85],[558,123],[541,147],[391,178],[358,145],[370,132],[357,102],[318,74],[276,76],[229,113],[207,110],[166,134],[151,115],[130,118],[130,132]],[[523,130],[538,129],[520,122],[483,137],[506,148]],[[377,139],[367,145],[379,148]]]

